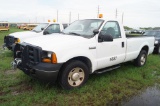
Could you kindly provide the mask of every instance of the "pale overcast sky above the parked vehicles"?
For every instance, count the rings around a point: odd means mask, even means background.
[[[160,27],[160,0],[0,0],[0,21],[47,22],[48,19],[69,22],[96,18],[98,12],[104,19],[117,19],[123,25]],[[78,15],[79,14],[79,15]]]

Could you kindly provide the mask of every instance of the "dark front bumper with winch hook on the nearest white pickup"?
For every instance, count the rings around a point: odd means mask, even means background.
[[[54,83],[57,80],[59,70],[62,66],[62,63],[38,63],[33,67],[23,67],[23,65],[18,61],[19,59],[15,59],[14,62],[12,62],[14,68],[19,68],[25,74],[37,78],[38,80],[51,83]]]

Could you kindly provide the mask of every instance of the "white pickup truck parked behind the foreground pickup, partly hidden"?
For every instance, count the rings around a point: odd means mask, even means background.
[[[7,47],[9,50],[13,51],[16,43],[21,43],[23,42],[23,40],[32,37],[49,35],[52,33],[60,33],[67,26],[68,24],[41,23],[38,26],[36,26],[32,31],[15,32],[9,34],[8,36],[5,36],[3,47]]]

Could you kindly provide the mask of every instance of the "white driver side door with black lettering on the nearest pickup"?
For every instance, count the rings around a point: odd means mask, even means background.
[[[122,38],[117,21],[108,21],[100,31],[100,35],[111,35],[113,41],[97,43],[97,69],[122,63],[125,59],[126,39]]]

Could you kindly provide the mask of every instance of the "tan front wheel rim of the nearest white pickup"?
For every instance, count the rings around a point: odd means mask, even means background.
[[[85,74],[82,68],[76,67],[73,68],[68,75],[68,83],[71,86],[79,86],[84,80]]]

